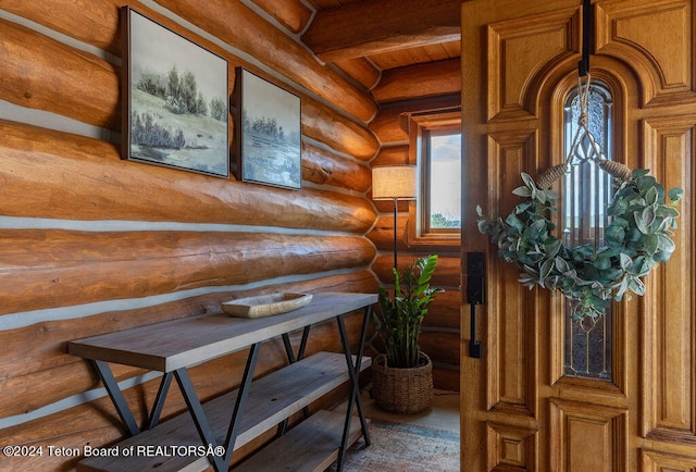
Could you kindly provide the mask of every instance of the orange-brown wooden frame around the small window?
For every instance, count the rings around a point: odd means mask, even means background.
[[[452,249],[461,246],[461,228],[431,229],[430,226],[430,195],[428,175],[430,162],[424,162],[427,153],[427,137],[433,131],[457,129],[461,135],[461,108],[433,110],[409,115],[409,164],[418,165],[419,199],[409,202],[409,222],[407,241],[410,247],[427,247]],[[460,196],[461,198],[461,196]]]

